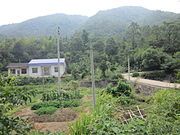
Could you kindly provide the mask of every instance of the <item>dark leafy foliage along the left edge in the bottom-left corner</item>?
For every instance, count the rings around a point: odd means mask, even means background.
[[[3,78],[2,76],[0,78]],[[31,125],[19,117],[7,116],[6,113],[14,106],[31,102],[34,91],[27,87],[14,86],[14,78],[9,78],[8,83],[0,80],[0,135],[27,134]]]

